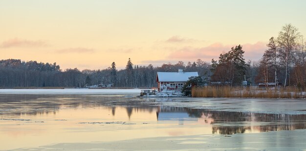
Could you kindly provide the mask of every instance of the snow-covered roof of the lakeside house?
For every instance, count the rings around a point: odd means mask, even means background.
[[[157,82],[186,82],[189,77],[198,76],[197,72],[157,72]]]

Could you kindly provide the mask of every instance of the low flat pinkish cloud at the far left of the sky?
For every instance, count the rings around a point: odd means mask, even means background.
[[[42,40],[27,40],[20,38],[13,38],[3,41],[0,45],[1,48],[11,48],[11,47],[44,47],[47,44]]]

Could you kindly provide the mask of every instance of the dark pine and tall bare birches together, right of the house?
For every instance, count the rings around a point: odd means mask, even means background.
[[[243,58],[242,46],[232,47],[220,54],[219,60],[212,59],[211,81],[222,85],[238,86],[246,78],[253,83],[274,83],[275,86],[295,86],[306,90],[305,39],[291,24],[283,26],[277,38],[271,37],[260,61]]]

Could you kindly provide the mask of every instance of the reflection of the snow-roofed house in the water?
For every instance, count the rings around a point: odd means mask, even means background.
[[[157,121],[162,120],[177,120],[180,124],[183,121],[197,121],[197,118],[192,118],[187,112],[187,108],[159,106],[156,112]]]

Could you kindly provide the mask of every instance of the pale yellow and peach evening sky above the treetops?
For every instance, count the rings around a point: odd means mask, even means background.
[[[61,69],[210,62],[241,44],[259,60],[291,23],[306,35],[306,0],[0,0],[0,59]]]

